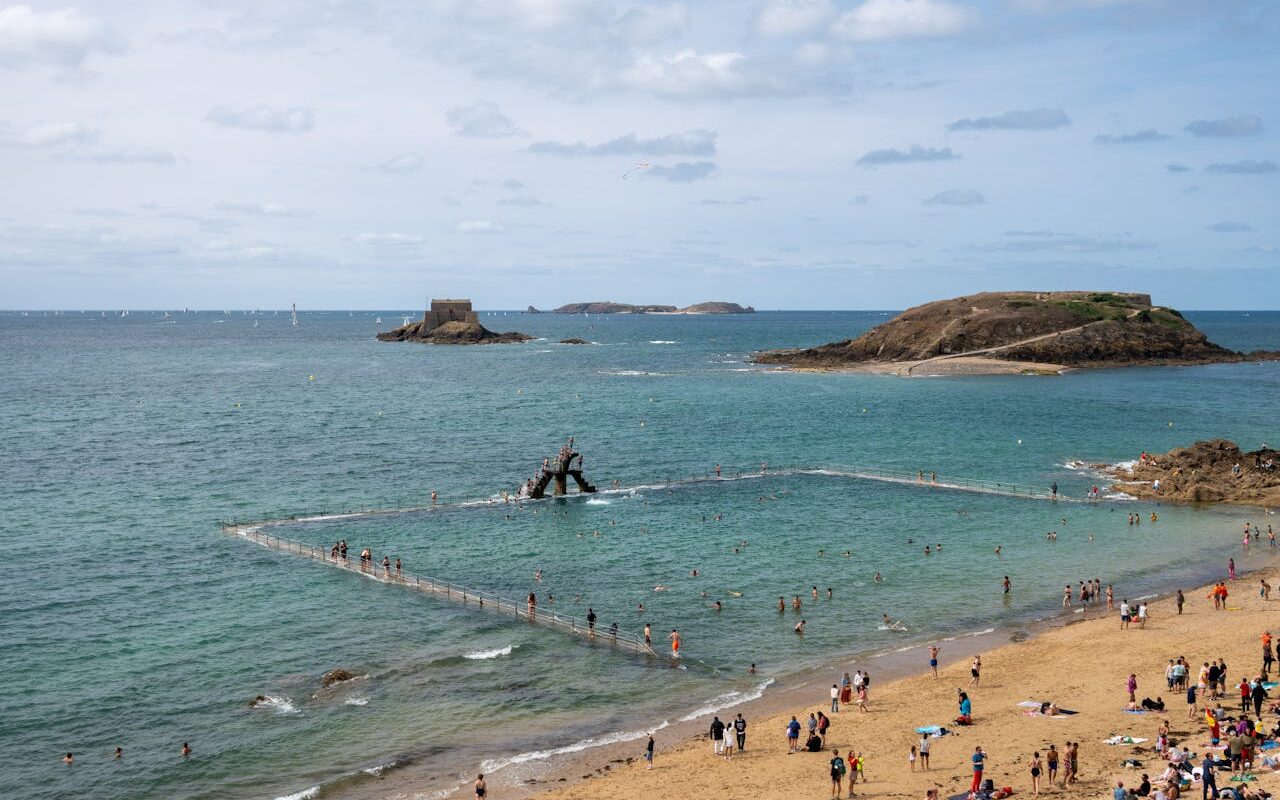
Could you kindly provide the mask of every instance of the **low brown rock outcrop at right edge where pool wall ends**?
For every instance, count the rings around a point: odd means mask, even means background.
[[[1146,454],[1133,468],[1108,471],[1120,481],[1115,490],[1143,499],[1280,506],[1277,456],[1270,448],[1244,453],[1234,442],[1213,439],[1162,456]]]

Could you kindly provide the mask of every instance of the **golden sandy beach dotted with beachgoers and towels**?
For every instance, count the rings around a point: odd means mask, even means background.
[[[1265,543],[1261,547],[1266,547]],[[1230,553],[1213,553],[1212,558],[1221,558],[1225,568],[1228,556]],[[812,701],[782,714],[755,717],[753,707],[746,705],[722,716],[727,721],[741,710],[749,721],[746,750],[736,754],[732,762],[713,755],[705,733],[676,740],[668,732],[659,732],[652,771],[645,769],[639,758],[644,748],[644,741],[639,741],[634,746],[634,759],[608,769],[596,765],[595,777],[536,796],[543,800],[828,797],[829,749],[836,748],[841,754],[852,749],[864,756],[867,782],[856,786],[856,796],[924,797],[928,788],[937,787],[942,797],[948,797],[968,791],[969,759],[977,746],[987,754],[987,778],[997,787],[1012,787],[1016,796],[1032,796],[1032,754],[1039,750],[1043,755],[1050,744],[1061,751],[1069,741],[1079,744],[1079,781],[1062,788],[1048,786],[1042,778],[1041,792],[1070,797],[1111,796],[1116,780],[1132,787],[1139,783],[1142,773],[1155,778],[1164,771],[1164,760],[1149,749],[1161,721],[1169,721],[1172,744],[1199,754],[1208,745],[1203,713],[1189,718],[1185,692],[1167,689],[1165,667],[1169,659],[1184,655],[1192,664],[1193,681],[1201,663],[1224,659],[1228,691],[1221,705],[1229,712],[1239,709],[1235,685],[1242,676],[1258,673],[1260,635],[1272,625],[1271,603],[1258,593],[1260,577],[1275,584],[1280,570],[1266,568],[1231,581],[1229,611],[1213,609],[1207,598],[1208,586],[1184,590],[1187,604],[1181,616],[1176,614],[1172,598],[1161,598],[1149,605],[1144,628],[1121,630],[1117,612],[1094,607],[1076,621],[983,653],[982,681],[977,687],[969,686],[968,658],[956,659],[955,653],[947,658],[952,643],[941,643],[938,678],[928,673],[928,652],[922,648],[916,650],[919,673],[883,685],[873,684],[867,713],[851,707],[831,714],[824,753],[788,755],[783,736],[791,714],[805,723],[810,713],[829,712],[829,684],[815,684]],[[1018,591],[1014,588],[1015,603]],[[1121,599],[1117,593],[1117,607]],[[1162,696],[1167,704],[1165,713],[1125,710],[1125,684],[1130,673],[1138,680],[1138,700]],[[832,673],[831,681],[838,677]],[[973,701],[973,726],[956,728],[951,724],[957,710],[957,689],[964,689]],[[1053,700],[1078,713],[1044,717],[1019,707],[1030,700]],[[1274,714],[1263,709],[1263,721],[1270,727]],[[708,717],[705,724],[709,723]],[[908,753],[919,739],[914,731],[929,724],[945,726],[955,733],[933,739],[931,769],[913,772]],[[1111,736],[1142,737],[1147,742],[1105,744]],[[1142,767],[1124,767],[1125,759],[1137,759]],[[1272,774],[1256,774],[1260,782],[1251,787],[1275,791],[1280,785]],[[1233,785],[1226,774],[1220,776],[1217,783],[1219,787]],[[1201,787],[1194,785],[1184,796],[1198,797],[1199,794]]]

